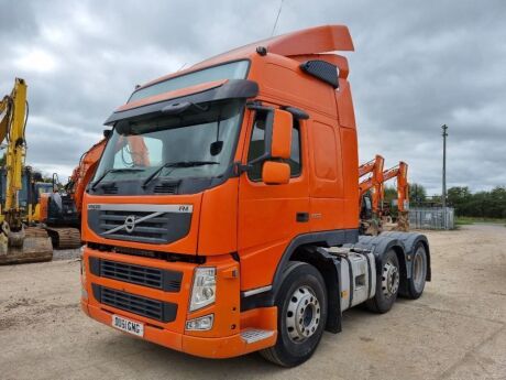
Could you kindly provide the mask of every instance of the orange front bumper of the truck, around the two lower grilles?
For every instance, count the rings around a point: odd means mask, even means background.
[[[164,292],[162,290],[95,275],[89,271],[90,257],[180,271],[183,273],[180,289],[178,292]],[[88,248],[85,249],[82,260],[86,276],[82,282],[84,296],[81,298],[81,308],[88,316],[106,325],[112,325],[113,314],[121,315],[144,324],[143,338],[145,340],[207,358],[235,357],[271,347],[276,341],[276,307],[253,310],[246,313],[240,312],[239,264],[230,259],[230,256],[223,256],[222,258],[215,257],[206,263],[206,265],[217,268],[217,300],[215,304],[193,313],[188,312],[188,300],[191,292],[193,272],[197,264],[174,263],[120,253],[99,252]],[[92,284],[95,286],[106,286],[133,295],[177,304],[177,314],[174,319],[164,323],[101,304],[94,295]],[[186,321],[211,313],[215,315],[215,324],[211,330],[185,330]],[[265,339],[252,343],[242,336],[242,333],[251,328],[268,329],[273,334]]]

